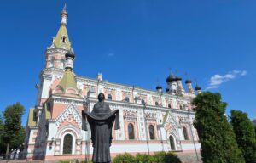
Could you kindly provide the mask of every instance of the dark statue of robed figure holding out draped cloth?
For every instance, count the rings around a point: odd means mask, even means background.
[[[110,110],[108,103],[104,101],[103,93],[98,95],[98,102],[94,105],[91,112],[83,110],[83,124],[82,129],[87,131],[86,118],[90,125],[91,141],[93,146],[92,161],[94,163],[109,163],[110,146],[112,142],[112,127],[115,121],[114,129],[118,130],[119,126],[119,110]]]

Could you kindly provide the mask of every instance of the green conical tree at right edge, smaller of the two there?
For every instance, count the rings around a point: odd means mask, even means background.
[[[256,163],[256,136],[247,113],[231,110],[230,123],[236,134],[236,142],[247,163]]]

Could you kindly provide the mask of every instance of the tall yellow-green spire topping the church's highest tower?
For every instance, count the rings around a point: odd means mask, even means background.
[[[53,44],[55,48],[64,48],[71,50],[71,42],[67,35],[67,5],[65,3],[64,8],[61,11],[61,27],[54,38]]]

